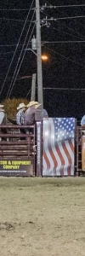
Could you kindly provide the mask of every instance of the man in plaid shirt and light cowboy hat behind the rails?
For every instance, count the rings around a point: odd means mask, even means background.
[[[16,114],[16,123],[17,125],[25,125],[25,109],[26,105],[24,103],[20,103],[20,105],[17,107],[18,113]],[[23,128],[20,128],[20,132],[23,134],[26,134],[26,130]],[[21,140],[24,140],[24,137],[20,138]]]

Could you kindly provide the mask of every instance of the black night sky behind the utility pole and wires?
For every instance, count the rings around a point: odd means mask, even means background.
[[[31,89],[31,79],[20,80],[19,78],[37,73],[37,57],[31,51],[26,51],[18,79],[15,83],[12,81],[20,50],[31,23],[33,10],[31,10],[25,30],[20,38],[31,2],[31,0],[0,1],[1,101],[8,95],[9,88],[12,90],[12,97],[26,97],[27,92]],[[65,6],[82,5],[85,4],[85,1],[41,0],[40,6],[44,5],[44,3]],[[35,1],[33,6],[35,7]],[[16,10],[13,11],[13,9]],[[42,44],[42,53],[48,54],[48,62],[42,63],[44,108],[48,110],[48,114],[51,117],[75,117],[80,119],[85,113],[85,90],[83,90],[85,89],[85,6],[43,9],[41,20],[46,16],[48,16],[48,19],[54,17],[54,19],[59,20],[49,21],[50,26],[48,28],[42,26],[41,30],[42,42],[49,42]],[[70,17],[72,18],[70,19]],[[35,20],[35,16],[33,20]],[[31,23],[26,43],[31,37],[33,26],[34,22]],[[36,34],[35,28],[33,34]],[[20,45],[14,55],[19,38]],[[26,45],[24,49],[25,47]],[[31,47],[31,44],[29,47]],[[14,61],[12,61],[8,78],[4,83],[13,55]],[[12,88],[13,83],[14,86]]]

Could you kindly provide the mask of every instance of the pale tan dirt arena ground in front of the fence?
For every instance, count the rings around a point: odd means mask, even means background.
[[[85,177],[0,177],[0,256],[85,255]]]

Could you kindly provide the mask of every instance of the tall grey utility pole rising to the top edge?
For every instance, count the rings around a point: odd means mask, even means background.
[[[41,25],[40,25],[40,7],[39,0],[36,0],[36,22],[37,22],[37,100],[42,103],[43,108],[43,93],[42,93],[42,49],[41,49]]]

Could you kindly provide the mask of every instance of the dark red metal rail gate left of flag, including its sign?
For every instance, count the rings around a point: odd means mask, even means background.
[[[0,129],[0,176],[35,176],[35,125],[0,125]]]

